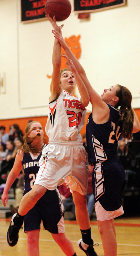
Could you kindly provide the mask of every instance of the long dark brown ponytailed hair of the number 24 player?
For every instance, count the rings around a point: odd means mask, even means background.
[[[116,90],[116,96],[119,97],[119,102],[116,108],[120,106],[120,119],[122,122],[122,136],[123,138],[132,138],[132,130],[134,123],[134,111],[131,107],[132,94],[125,86],[117,85],[119,90]],[[121,100],[120,100],[121,99]]]

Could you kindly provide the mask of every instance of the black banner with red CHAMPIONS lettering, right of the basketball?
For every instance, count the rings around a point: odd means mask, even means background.
[[[88,13],[125,5],[126,0],[74,0],[74,12]]]

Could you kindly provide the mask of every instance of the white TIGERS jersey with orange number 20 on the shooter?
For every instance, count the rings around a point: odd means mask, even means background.
[[[86,109],[80,98],[62,90],[59,97],[49,104],[45,127],[50,140],[82,141],[80,130],[85,123]]]

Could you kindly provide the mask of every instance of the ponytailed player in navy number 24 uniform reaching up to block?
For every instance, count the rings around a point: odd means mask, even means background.
[[[124,167],[117,157],[117,142],[121,134],[129,139],[132,132],[140,130],[139,120],[131,107],[132,95],[126,87],[113,85],[104,89],[100,96],[65,43],[61,31],[53,30],[52,33],[72,60],[90,96],[92,113],[87,122],[86,137],[88,161],[93,166],[95,211],[104,256],[116,256],[114,218],[124,213],[120,198],[126,185]],[[119,106],[120,110],[117,109]]]

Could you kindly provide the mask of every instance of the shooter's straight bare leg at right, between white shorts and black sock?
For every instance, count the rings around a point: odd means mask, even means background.
[[[74,191],[72,193],[75,204],[76,220],[80,229],[85,230],[90,228],[89,212],[87,208],[86,196]]]

